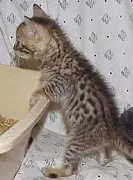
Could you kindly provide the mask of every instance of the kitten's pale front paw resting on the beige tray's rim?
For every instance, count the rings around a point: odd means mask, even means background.
[[[40,100],[42,99],[43,95],[37,93],[37,92],[34,92],[31,97],[30,97],[30,100],[29,100],[29,106],[30,106],[30,109]]]

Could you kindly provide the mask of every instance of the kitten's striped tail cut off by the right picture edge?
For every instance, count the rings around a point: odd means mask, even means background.
[[[123,133],[116,136],[113,140],[113,144],[120,153],[124,154],[129,159],[133,159],[133,142],[130,141]]]

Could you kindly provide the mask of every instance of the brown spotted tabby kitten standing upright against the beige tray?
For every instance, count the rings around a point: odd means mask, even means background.
[[[66,117],[64,163],[61,168],[44,168],[45,176],[70,176],[76,173],[82,157],[93,152],[103,165],[110,161],[112,149],[133,158],[133,144],[121,131],[118,108],[108,84],[39,6],[34,4],[33,17],[25,17],[18,26],[14,50],[19,67],[28,64],[27,68],[34,66],[41,71],[30,106],[45,96],[59,103]]]

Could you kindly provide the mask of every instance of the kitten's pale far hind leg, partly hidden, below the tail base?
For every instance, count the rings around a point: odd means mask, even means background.
[[[110,161],[112,161],[111,150],[108,147],[100,148],[98,151],[96,160],[99,164],[101,164],[102,166],[105,166]]]

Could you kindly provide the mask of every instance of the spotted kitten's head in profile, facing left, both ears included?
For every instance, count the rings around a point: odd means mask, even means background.
[[[16,66],[40,69],[48,53],[57,51],[56,36],[61,29],[54,20],[36,4],[33,5],[33,17],[25,17],[16,31],[14,45]],[[51,52],[50,52],[51,51]]]

